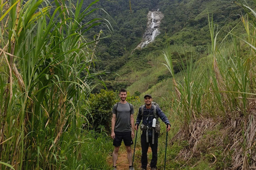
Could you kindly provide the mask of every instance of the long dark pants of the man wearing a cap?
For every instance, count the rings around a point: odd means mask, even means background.
[[[146,138],[146,131],[143,131],[141,134],[141,167],[147,169],[148,164],[148,147],[151,147],[152,150],[152,159],[150,167],[156,167],[157,163],[157,146],[158,146],[158,133],[155,133],[155,142],[152,144],[152,137],[148,137],[148,143]]]

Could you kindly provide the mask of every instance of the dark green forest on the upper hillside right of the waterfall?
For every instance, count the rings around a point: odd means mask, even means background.
[[[208,32],[208,13],[219,27],[233,28],[243,10],[233,2],[227,1],[161,1],[159,2],[165,18],[161,24],[163,32],[170,37],[171,44],[191,44],[204,46],[210,43]]]

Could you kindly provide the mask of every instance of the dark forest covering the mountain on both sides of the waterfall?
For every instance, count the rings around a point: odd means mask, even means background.
[[[100,1],[95,5],[104,8],[106,13],[102,11],[94,13],[93,17],[104,16],[108,18],[113,28],[113,32],[110,33],[106,26],[99,25],[97,29],[90,32],[91,37],[100,30],[103,31],[103,35],[111,34],[110,38],[100,41],[95,53],[97,55],[95,63],[98,69],[118,72],[121,76],[125,76],[130,70],[145,70],[151,67],[147,63],[149,61],[145,60],[146,56],[157,50],[161,53],[167,42],[171,45],[191,45],[195,47],[198,53],[207,53],[207,46],[210,43],[207,14],[209,13],[213,17],[214,22],[220,28],[229,31],[240,21],[239,16],[244,13],[244,10],[235,3],[221,0],[120,0]],[[160,28],[161,35],[146,49],[134,50],[145,32],[147,13],[152,10],[159,10],[164,14]],[[221,32],[218,39],[223,38],[224,35]],[[130,69],[126,69],[127,65]],[[178,69],[176,70],[178,71]],[[107,87],[113,90],[118,89],[117,84],[119,83],[122,83],[123,87],[131,85],[129,81],[120,82],[116,74],[109,74],[103,79],[111,81]],[[99,92],[99,90],[95,91]]]

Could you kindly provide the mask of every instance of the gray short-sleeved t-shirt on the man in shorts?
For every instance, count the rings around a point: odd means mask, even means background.
[[[131,131],[131,114],[134,113],[133,106],[128,102],[126,104],[118,103],[113,107],[113,114],[116,115],[115,131],[129,132]],[[117,113],[116,113],[117,111]]]

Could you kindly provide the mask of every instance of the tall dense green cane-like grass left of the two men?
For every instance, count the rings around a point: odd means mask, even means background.
[[[79,98],[98,74],[91,68],[96,40],[85,33],[100,24],[82,20],[98,1],[85,10],[83,0],[1,1],[0,169],[62,169],[78,161]]]

